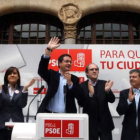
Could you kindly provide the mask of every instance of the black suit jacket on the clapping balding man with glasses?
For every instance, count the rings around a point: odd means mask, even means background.
[[[115,96],[111,90],[109,93],[105,93],[105,83],[106,81],[98,80],[93,97],[89,96],[88,80],[81,83],[81,87],[85,93],[84,102],[82,104],[83,113],[89,115],[90,137],[94,137],[94,135],[97,134],[99,125],[102,132],[110,132],[114,129],[108,102],[113,103]]]

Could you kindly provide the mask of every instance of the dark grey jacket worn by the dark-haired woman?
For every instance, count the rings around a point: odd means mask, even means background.
[[[0,94],[0,129],[5,127],[5,122],[12,118],[13,122],[24,122],[22,108],[27,104],[27,93],[22,93],[23,87],[20,87],[19,93],[14,93],[12,100],[8,93]]]

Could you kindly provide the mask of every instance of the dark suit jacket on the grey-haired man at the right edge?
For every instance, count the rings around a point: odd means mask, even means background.
[[[129,89],[120,92],[120,100],[117,106],[117,112],[124,115],[122,122],[122,135],[121,140],[134,140],[136,132],[136,104],[135,99],[130,105],[127,103]],[[138,131],[140,136],[140,102],[138,108]],[[140,138],[139,138],[140,139]]]

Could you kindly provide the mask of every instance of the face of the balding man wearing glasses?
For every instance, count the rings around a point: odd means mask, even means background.
[[[98,75],[99,75],[98,66],[95,64],[89,64],[86,75],[91,81],[96,81],[98,79]]]

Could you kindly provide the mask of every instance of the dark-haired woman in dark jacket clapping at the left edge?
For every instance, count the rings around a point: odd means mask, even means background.
[[[4,85],[0,83],[0,140],[10,140],[12,129],[5,122],[24,122],[22,108],[27,105],[28,91],[35,79],[26,86],[20,86],[20,73],[16,67],[5,72]]]

